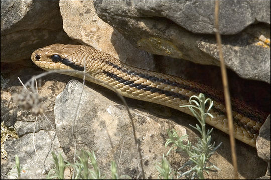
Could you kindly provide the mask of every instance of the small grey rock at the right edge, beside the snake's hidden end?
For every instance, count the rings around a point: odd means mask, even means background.
[[[260,128],[256,147],[258,156],[268,163],[266,175],[270,176],[270,115]]]

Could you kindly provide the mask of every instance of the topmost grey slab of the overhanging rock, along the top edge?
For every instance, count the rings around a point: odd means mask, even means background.
[[[98,14],[106,13],[120,18],[166,18],[193,33],[214,34],[214,1],[200,0],[127,0],[95,1]],[[219,27],[222,35],[232,35],[247,26],[264,22],[270,24],[270,2],[264,0],[220,1]],[[103,14],[105,15],[105,14]],[[99,15],[100,16],[100,15]],[[118,19],[118,20],[120,20]]]

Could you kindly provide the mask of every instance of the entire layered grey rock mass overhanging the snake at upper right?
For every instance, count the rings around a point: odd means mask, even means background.
[[[257,10],[269,11],[270,2],[220,3],[226,66],[243,78],[270,83],[270,15]],[[213,6],[214,1],[94,2],[98,16],[134,46],[153,54],[219,65],[215,36],[210,35],[214,34]],[[240,14],[240,9],[246,10]],[[262,23],[251,25],[255,18]]]

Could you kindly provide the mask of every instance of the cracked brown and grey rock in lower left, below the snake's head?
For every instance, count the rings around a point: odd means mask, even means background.
[[[54,136],[55,131],[52,130],[51,125],[45,117],[43,115],[42,117],[33,116],[29,111],[22,109],[12,100],[13,95],[20,94],[23,90],[23,86],[19,83],[17,77],[20,77],[25,84],[32,75],[38,75],[42,73],[42,70],[27,69],[24,67],[21,70],[18,68],[16,69],[16,71],[11,72],[9,75],[10,80],[6,87],[1,88],[1,120],[8,125],[14,124],[13,126],[15,126],[19,139],[8,138],[4,142],[3,146],[4,150],[7,152],[7,156],[6,160],[1,159],[1,179],[15,178],[12,176],[14,174],[8,175],[9,172],[15,170],[15,155],[18,155],[20,164],[25,170],[25,172],[21,173],[22,179],[46,178],[46,174],[43,174],[45,168],[43,162],[45,162],[48,167],[52,168],[51,151],[60,152],[64,159],[67,159],[67,157],[60,148],[57,136]],[[55,98],[64,89],[66,84],[65,81],[67,83],[67,76],[60,74],[47,75],[43,77],[43,81],[37,79],[38,91],[42,96],[42,103],[46,106],[44,114],[54,127],[55,118],[53,108]],[[12,113],[9,113],[10,111]],[[35,146],[42,162],[35,154],[32,142],[36,118]],[[48,170],[48,168],[46,168],[46,170]]]

